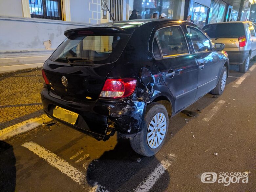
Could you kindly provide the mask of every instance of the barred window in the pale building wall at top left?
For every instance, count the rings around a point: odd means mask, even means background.
[[[60,1],[61,0],[29,0],[31,17],[62,20]]]

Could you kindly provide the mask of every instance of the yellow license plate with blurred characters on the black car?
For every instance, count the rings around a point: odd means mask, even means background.
[[[55,109],[53,109],[53,117],[66,121],[72,125],[75,125],[78,114],[73,111],[69,111],[62,107],[56,106]]]

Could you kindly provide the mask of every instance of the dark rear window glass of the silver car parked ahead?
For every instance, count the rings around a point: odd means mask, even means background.
[[[217,23],[212,25],[206,25],[203,30],[210,38],[217,37],[241,37],[245,35],[245,29],[243,23]]]

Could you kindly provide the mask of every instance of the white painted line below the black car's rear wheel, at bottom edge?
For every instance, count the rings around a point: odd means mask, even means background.
[[[139,186],[135,189],[135,192],[147,192],[149,191],[156,181],[164,174],[165,170],[172,164],[176,159],[176,155],[169,154],[168,159],[162,160],[161,163],[150,173],[148,178],[141,182]]]

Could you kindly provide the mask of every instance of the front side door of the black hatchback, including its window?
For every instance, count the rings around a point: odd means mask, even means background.
[[[195,50],[195,58],[199,68],[197,99],[216,87],[219,79],[220,59],[218,53],[212,51],[212,44],[203,32],[192,26],[187,26],[187,31]]]

